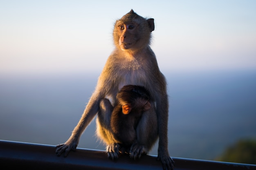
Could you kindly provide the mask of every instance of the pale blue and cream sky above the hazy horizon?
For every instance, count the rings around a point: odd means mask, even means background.
[[[162,71],[256,68],[256,0],[0,0],[0,73],[100,72],[130,9]]]

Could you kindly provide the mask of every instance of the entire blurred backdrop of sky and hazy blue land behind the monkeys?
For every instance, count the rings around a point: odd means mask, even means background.
[[[151,47],[168,82],[170,155],[256,164],[245,160],[256,157],[255,7],[255,0],[0,0],[0,139],[64,143],[114,48],[115,21],[133,9],[155,19]],[[105,150],[94,132],[95,119],[78,147]]]

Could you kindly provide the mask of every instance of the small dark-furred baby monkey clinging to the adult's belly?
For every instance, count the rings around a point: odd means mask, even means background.
[[[123,147],[130,151],[136,143],[136,128],[144,111],[149,110],[150,93],[143,86],[126,85],[117,93],[116,105],[110,118],[113,136]]]

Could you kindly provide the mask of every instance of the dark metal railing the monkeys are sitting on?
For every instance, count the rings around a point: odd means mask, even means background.
[[[173,158],[175,170],[256,170],[256,165]],[[106,152],[77,148],[68,157],[57,157],[55,146],[0,140],[1,169],[56,170],[162,170],[156,156],[143,155],[132,160],[121,155],[118,160],[107,158]]]

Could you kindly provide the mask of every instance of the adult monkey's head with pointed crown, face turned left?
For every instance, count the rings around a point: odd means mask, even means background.
[[[150,44],[154,31],[154,19],[139,16],[133,10],[115,23],[113,37],[115,46],[123,51],[136,52]]]

